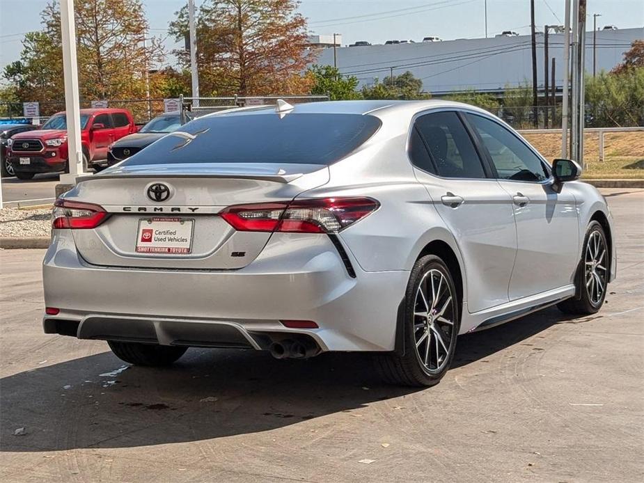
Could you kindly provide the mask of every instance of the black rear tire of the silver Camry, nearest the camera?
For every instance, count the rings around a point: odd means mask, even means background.
[[[437,280],[437,274],[441,274],[443,278],[439,278],[438,295],[434,297],[434,290],[432,290],[429,283],[430,280],[432,282]],[[446,288],[443,285],[443,280],[446,281]],[[427,284],[424,285],[425,290],[432,290],[432,299],[437,298],[437,302],[425,300],[423,296],[419,297],[418,291],[421,290],[421,283]],[[446,289],[449,290],[448,294],[445,292]],[[429,292],[427,294],[429,295]],[[420,309],[418,306],[419,300],[422,302]],[[427,307],[426,312],[431,317],[417,315],[419,310],[422,312],[423,303]],[[444,317],[434,319],[443,308]],[[449,317],[447,314],[449,314]],[[376,370],[387,383],[400,386],[434,386],[434,384],[439,383],[450,367],[460,328],[460,301],[458,300],[454,280],[445,262],[436,255],[426,255],[418,259],[414,264],[414,269],[411,270],[411,276],[409,276],[409,283],[407,284],[403,317],[405,350],[402,351],[402,354],[398,354],[398,352],[377,354],[375,356]],[[440,319],[450,319],[450,324],[443,323]],[[439,333],[442,335],[439,335]],[[425,342],[423,342],[423,335]],[[448,350],[445,351],[446,354],[442,359],[440,357],[441,349],[439,349],[438,338],[445,341],[449,340],[449,346],[446,347]],[[430,349],[434,351],[432,340],[434,340],[437,347],[435,351],[436,364],[434,364],[436,367],[434,369],[431,367],[432,356],[429,353]],[[420,346],[418,346],[417,342]],[[425,347],[424,350],[423,347]],[[421,352],[425,353],[424,361],[421,358]],[[428,355],[429,363],[427,365]]]

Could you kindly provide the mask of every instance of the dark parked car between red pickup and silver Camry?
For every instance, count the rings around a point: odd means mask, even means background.
[[[192,114],[185,113],[186,120],[192,120]],[[176,131],[181,127],[181,116],[178,112],[164,113],[150,120],[148,124],[139,129],[135,134],[120,138],[107,147],[105,166],[112,166],[123,159],[136,154],[146,146],[162,138],[168,132]]]

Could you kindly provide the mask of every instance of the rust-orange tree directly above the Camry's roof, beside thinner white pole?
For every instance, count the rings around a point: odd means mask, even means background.
[[[304,75],[313,53],[306,49],[306,19],[296,0],[206,0],[196,19],[199,90],[202,95],[308,93]],[[187,7],[170,33],[188,32]],[[189,52],[175,52],[189,66]]]

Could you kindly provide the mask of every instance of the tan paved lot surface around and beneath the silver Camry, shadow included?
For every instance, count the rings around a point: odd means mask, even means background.
[[[43,334],[44,251],[1,251],[0,480],[640,482],[644,190],[603,191],[618,279],[602,311],[464,335],[425,390],[351,354],[127,367],[104,342]]]

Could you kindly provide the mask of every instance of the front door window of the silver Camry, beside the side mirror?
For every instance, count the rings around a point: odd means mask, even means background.
[[[547,180],[549,174],[541,159],[508,129],[493,120],[467,114],[492,158],[500,180]]]

